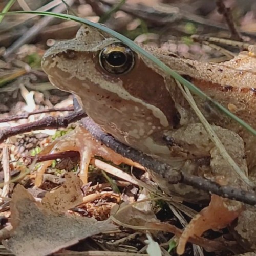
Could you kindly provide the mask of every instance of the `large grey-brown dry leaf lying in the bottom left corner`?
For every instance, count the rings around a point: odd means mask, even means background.
[[[72,178],[70,181],[76,184]],[[71,184],[70,181],[68,184]],[[69,187],[67,191],[74,189],[71,186],[67,187]],[[65,194],[61,192],[59,195]],[[15,187],[10,203],[11,224],[14,230],[9,240],[2,241],[7,249],[20,256],[49,255],[81,239],[103,231],[115,230],[115,226],[106,221],[57,214],[56,208],[49,203],[52,199],[53,202],[58,202],[57,197],[48,196],[48,200],[45,200],[48,203],[42,205],[36,202],[22,185],[18,184]],[[46,208],[47,206],[50,208]],[[57,209],[63,210],[65,207],[57,207]]]

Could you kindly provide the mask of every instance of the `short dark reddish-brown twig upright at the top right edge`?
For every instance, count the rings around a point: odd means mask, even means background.
[[[237,41],[243,41],[240,34],[238,33],[236,25],[234,24],[231,9],[225,6],[223,0],[216,0],[216,5],[218,7],[218,12],[222,14],[226,20],[227,26],[231,32],[231,38]]]

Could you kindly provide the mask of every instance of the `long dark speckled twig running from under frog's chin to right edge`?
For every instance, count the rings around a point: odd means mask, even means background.
[[[255,193],[230,186],[221,186],[210,180],[190,175],[183,171],[178,172],[171,170],[172,168],[168,164],[163,164],[140,151],[134,150],[134,148],[118,142],[112,136],[104,134],[91,119],[83,118],[81,123],[96,139],[110,147],[116,153],[160,174],[163,178],[166,178],[170,184],[184,183],[224,198],[256,205]]]

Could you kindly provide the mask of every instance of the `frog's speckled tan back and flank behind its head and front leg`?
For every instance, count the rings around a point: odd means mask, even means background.
[[[203,63],[162,51],[155,55],[256,130],[256,57],[242,52],[226,62]],[[180,94],[178,90],[175,93]],[[195,100],[211,124],[232,130],[243,138],[249,169],[255,166],[256,137],[217,110],[211,102],[196,95]],[[187,103],[183,104],[188,107]]]

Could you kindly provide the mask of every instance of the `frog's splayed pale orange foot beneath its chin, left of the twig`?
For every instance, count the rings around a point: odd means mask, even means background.
[[[120,156],[112,151],[110,148],[102,145],[96,141],[91,134],[82,126],[76,127],[72,132],[65,136],[56,139],[52,144],[44,148],[39,155],[54,154],[65,151],[78,151],[80,153],[80,179],[83,184],[88,182],[88,167],[91,158],[95,155],[101,156],[106,160],[112,161],[114,164],[126,163],[133,166],[138,164],[133,161]],[[52,164],[53,160],[41,163],[37,170],[35,178],[35,186],[39,187],[42,183],[42,176],[47,167]]]

